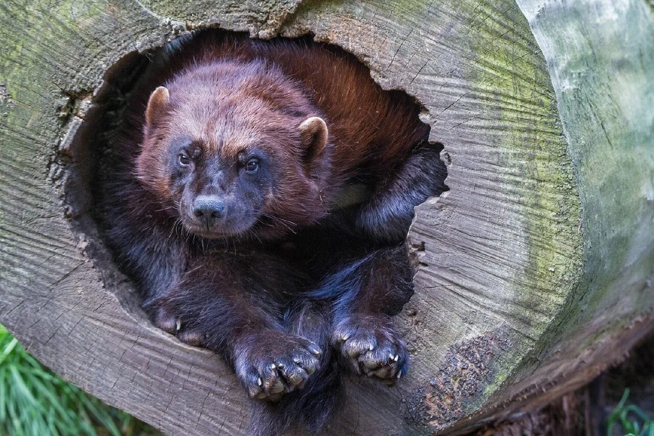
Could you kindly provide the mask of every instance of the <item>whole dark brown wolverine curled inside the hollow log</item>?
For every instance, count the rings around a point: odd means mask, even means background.
[[[251,433],[317,433],[344,374],[406,374],[405,236],[446,189],[419,110],[335,46],[222,31],[161,49],[131,92],[107,240],[155,325],[233,368]]]

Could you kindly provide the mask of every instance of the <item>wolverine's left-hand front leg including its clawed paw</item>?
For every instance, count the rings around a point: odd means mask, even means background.
[[[154,300],[161,329],[220,353],[250,397],[277,400],[303,387],[322,350],[288,333],[283,300],[294,294],[294,271],[275,257],[209,253],[190,262],[179,285]]]

